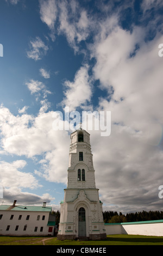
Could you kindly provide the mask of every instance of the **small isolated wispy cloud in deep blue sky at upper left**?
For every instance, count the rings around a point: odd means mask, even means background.
[[[30,41],[30,51],[27,51],[27,57],[34,60],[40,60],[46,55],[47,51],[48,46],[44,44],[39,36],[36,36],[35,40]]]

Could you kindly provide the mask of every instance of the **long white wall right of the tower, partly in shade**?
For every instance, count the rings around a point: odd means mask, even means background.
[[[128,235],[153,235],[163,236],[163,221],[130,222],[129,224],[105,224],[106,235],[128,234]]]

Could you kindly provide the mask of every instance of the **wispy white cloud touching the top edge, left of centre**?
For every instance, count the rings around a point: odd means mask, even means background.
[[[77,18],[77,16],[79,16]],[[54,0],[40,0],[40,17],[51,30],[51,38],[55,39],[55,21],[59,20],[59,27],[56,33],[65,34],[68,44],[75,52],[79,50],[78,43],[85,40],[89,34],[91,19],[87,16],[86,10],[82,10],[76,1],[70,2]]]

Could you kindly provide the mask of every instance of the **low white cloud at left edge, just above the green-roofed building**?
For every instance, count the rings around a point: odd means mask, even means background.
[[[16,160],[13,162],[0,161],[0,184],[3,187],[3,200],[5,204],[11,204],[17,200],[18,204],[42,204],[51,202],[49,194],[37,196],[34,193],[23,190],[34,190],[42,187],[32,172],[24,172],[27,162]]]

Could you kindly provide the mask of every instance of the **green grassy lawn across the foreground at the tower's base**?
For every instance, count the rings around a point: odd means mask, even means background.
[[[108,235],[107,239],[98,241],[60,241],[57,240],[57,237],[0,236],[0,245],[163,245],[163,237],[142,235]]]

